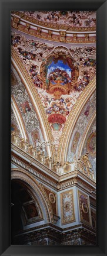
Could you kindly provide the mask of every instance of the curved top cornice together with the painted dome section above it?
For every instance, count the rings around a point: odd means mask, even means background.
[[[12,11],[12,27],[63,43],[95,43],[95,11]]]

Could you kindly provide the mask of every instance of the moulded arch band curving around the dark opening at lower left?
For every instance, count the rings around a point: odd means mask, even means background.
[[[26,171],[22,169],[12,168],[11,179],[22,180],[23,182],[26,183],[26,186],[28,186],[29,189],[33,191],[34,195],[37,197],[38,202],[41,205],[45,223],[54,223],[52,208],[49,203],[49,200],[47,199],[44,193],[44,189],[42,189],[42,186],[34,179],[34,177],[31,177],[29,173],[26,173]]]

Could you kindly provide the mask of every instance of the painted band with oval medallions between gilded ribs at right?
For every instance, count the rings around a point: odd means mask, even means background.
[[[94,92],[89,101],[86,102],[86,105],[83,107],[82,112],[79,115],[78,121],[75,124],[75,128],[73,129],[71,139],[69,141],[67,161],[71,162],[73,161],[73,158],[78,157],[78,151],[82,141],[82,137],[86,128],[89,125],[89,122],[91,121],[91,118],[93,118],[93,115],[95,115],[95,110],[96,92]],[[93,137],[91,138],[91,140],[92,139]]]

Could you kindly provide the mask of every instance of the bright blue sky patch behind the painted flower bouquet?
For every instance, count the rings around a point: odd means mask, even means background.
[[[71,77],[71,68],[68,66],[68,64],[64,64],[62,60],[58,60],[57,63],[54,63],[54,61],[52,61],[52,63],[48,67],[47,77],[49,73],[54,71],[54,69],[66,70],[66,73],[68,73],[69,77]]]

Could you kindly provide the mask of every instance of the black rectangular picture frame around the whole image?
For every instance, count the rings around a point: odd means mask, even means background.
[[[107,255],[107,176],[106,176],[106,17],[107,0],[1,0],[1,126],[0,126],[0,196],[1,196],[1,242],[0,255]],[[11,11],[14,10],[95,10],[97,15],[97,245],[11,245]]]

